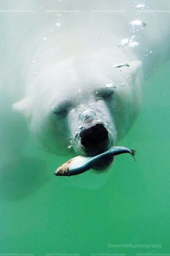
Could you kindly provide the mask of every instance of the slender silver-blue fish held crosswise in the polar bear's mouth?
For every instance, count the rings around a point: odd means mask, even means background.
[[[125,147],[111,147],[97,156],[76,156],[57,168],[54,174],[56,176],[72,176],[84,173],[105,160],[108,156],[116,156],[123,153],[129,153],[134,158],[136,151]]]

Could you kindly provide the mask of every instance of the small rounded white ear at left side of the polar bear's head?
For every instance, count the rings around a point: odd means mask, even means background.
[[[17,113],[30,116],[30,99],[29,97],[23,98],[22,100],[12,105],[13,111]]]

